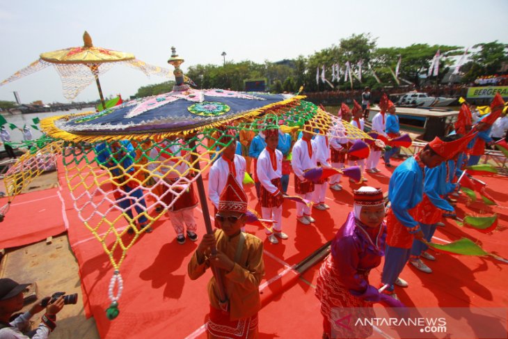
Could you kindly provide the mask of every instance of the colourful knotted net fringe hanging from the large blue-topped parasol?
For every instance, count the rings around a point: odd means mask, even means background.
[[[310,127],[313,134],[326,134],[331,138],[370,139],[356,127],[303,100],[272,105],[269,110],[257,114],[217,124],[223,126],[193,127],[180,133],[151,136],[79,136],[49,132],[51,128],[44,127],[56,120],[42,120],[45,132],[63,139],[40,139],[31,144],[30,151],[4,178],[9,199],[19,194],[49,164],[56,165],[57,157],[61,156],[79,219],[100,242],[115,269],[111,283],[114,287],[120,284],[122,261],[141,233],[173,207],[184,191],[189,190],[198,176],[220,156],[221,150],[236,142],[241,130],[259,132],[266,127],[280,127],[283,132],[293,133],[296,140],[299,130]],[[68,140],[65,136],[69,136]],[[83,141],[76,140],[80,137]],[[129,229],[133,232],[131,237],[126,235]],[[110,286],[110,294],[113,287]],[[118,290],[117,296],[110,295],[116,306],[120,292]],[[116,314],[116,310],[111,310],[111,314]]]

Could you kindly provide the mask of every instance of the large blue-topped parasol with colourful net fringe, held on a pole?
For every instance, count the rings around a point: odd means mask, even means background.
[[[351,140],[370,138],[305,102],[301,95],[192,89],[184,84],[183,62],[172,47],[168,63],[175,66],[176,84],[168,93],[97,113],[42,120],[41,128],[53,141],[22,156],[4,178],[11,201],[38,175],[30,159],[39,153],[62,155],[68,191],[79,218],[101,243],[114,268],[109,287],[110,319],[118,315],[123,285],[120,266],[127,251],[194,183],[207,232],[213,232],[201,173],[221,154],[223,148],[218,145],[236,142],[241,129],[259,132],[265,127],[289,132],[306,128],[313,134]],[[141,194],[132,194],[134,190]],[[7,207],[3,207],[4,213]],[[134,231],[132,236],[127,235],[129,229]],[[218,283],[220,277],[216,274]],[[224,291],[218,293],[226,302]]]

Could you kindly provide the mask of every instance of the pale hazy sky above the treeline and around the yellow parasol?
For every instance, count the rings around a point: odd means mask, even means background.
[[[95,46],[129,52],[170,68],[170,47],[198,63],[308,56],[338,45],[352,33],[372,33],[378,47],[413,43],[471,46],[508,42],[506,0],[449,1],[28,1],[0,3],[0,80],[38,59],[42,52],[81,46],[88,31]],[[172,68],[171,68],[172,69]],[[163,82],[118,65],[101,77],[104,95],[134,95],[140,86]],[[0,100],[67,102],[54,68],[0,87]],[[95,84],[77,101],[98,98]]]

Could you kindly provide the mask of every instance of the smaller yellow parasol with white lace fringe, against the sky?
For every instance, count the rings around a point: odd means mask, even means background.
[[[15,74],[3,80],[0,86],[54,65],[62,79],[64,97],[68,100],[73,100],[81,90],[84,90],[95,80],[102,107],[105,107],[99,75],[106,73],[113,65],[128,65],[141,70],[147,76],[152,74],[172,79],[168,69],[149,65],[136,59],[133,54],[94,47],[92,38],[90,38],[90,35],[86,31],[83,35],[83,41],[83,47],[71,47],[40,54],[39,60],[15,72]]]

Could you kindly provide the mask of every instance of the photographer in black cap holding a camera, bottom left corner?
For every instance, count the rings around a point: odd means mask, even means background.
[[[31,338],[47,338],[49,333],[56,327],[56,313],[60,312],[64,305],[64,296],[58,298],[46,297],[33,305],[30,310],[10,321],[13,313],[23,308],[23,290],[29,284],[19,284],[10,278],[0,278],[0,339],[29,338],[22,333],[33,315],[45,309],[41,322]],[[66,296],[68,297],[68,296]]]

